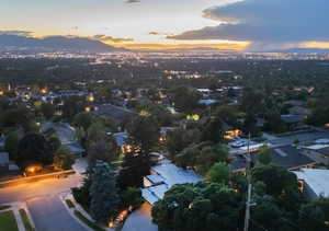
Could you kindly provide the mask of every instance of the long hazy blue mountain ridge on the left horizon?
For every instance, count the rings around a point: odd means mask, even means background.
[[[0,35],[0,50],[4,49],[71,50],[89,53],[124,50],[86,37],[49,36],[44,38],[34,38],[2,34]]]

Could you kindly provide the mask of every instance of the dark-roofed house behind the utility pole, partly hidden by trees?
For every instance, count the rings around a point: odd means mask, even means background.
[[[304,155],[300,150],[293,146],[284,146],[270,150],[271,164],[276,166],[283,166],[287,170],[299,170],[306,168],[313,168],[316,162],[310,158]],[[257,161],[257,152],[251,153],[251,160],[254,163]],[[235,172],[243,172],[247,165],[246,155],[238,154],[231,161],[230,168]]]

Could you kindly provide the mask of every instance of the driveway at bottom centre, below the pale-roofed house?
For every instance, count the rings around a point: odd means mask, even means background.
[[[126,219],[122,231],[158,231],[158,227],[151,222],[150,211],[151,206],[143,204]]]

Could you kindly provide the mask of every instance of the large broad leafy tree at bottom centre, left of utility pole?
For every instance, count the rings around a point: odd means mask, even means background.
[[[223,184],[200,183],[172,186],[151,213],[159,230],[238,230],[242,208],[236,190]]]

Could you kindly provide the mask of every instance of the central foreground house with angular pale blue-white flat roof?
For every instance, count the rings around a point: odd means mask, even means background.
[[[141,195],[146,201],[154,205],[162,199],[164,193],[175,184],[197,183],[203,178],[192,170],[183,170],[172,163],[162,163],[151,168],[151,175],[144,177]]]

